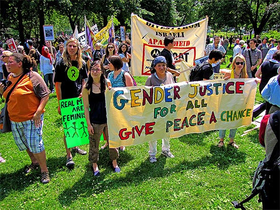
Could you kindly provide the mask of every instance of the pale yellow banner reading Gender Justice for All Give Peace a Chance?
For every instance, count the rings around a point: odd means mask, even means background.
[[[105,93],[110,147],[251,123],[255,79],[116,87]]]

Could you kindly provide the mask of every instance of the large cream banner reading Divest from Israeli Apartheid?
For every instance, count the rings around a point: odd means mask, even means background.
[[[164,48],[163,40],[167,35],[175,37],[172,49],[175,60],[183,58],[187,63],[204,56],[207,21],[203,19],[181,27],[166,27],[156,25],[131,15],[131,71],[133,76],[150,75],[150,66],[153,59]],[[176,64],[180,70],[180,63]]]

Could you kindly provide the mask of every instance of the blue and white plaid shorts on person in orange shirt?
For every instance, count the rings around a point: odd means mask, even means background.
[[[38,128],[32,120],[20,123],[11,121],[15,143],[20,151],[24,151],[27,148],[34,154],[44,151],[45,147],[42,139],[43,119],[44,115],[42,114],[41,126]]]

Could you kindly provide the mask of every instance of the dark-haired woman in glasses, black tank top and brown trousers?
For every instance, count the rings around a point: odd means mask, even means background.
[[[89,161],[92,164],[91,168],[94,176],[100,176],[97,161],[102,132],[105,134],[108,144],[108,126],[105,105],[106,86],[111,86],[110,80],[104,77],[102,63],[100,61],[95,61],[90,67],[89,80],[83,85],[82,89],[83,106],[85,107],[85,116],[90,135]],[[119,173],[121,171],[117,163],[119,151],[117,148],[109,148],[109,153],[114,172]]]

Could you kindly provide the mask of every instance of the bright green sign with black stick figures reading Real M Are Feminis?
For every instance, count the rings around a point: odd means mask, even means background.
[[[89,132],[81,98],[60,100],[67,147],[89,143]]]

